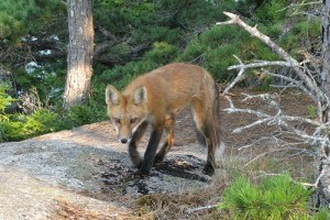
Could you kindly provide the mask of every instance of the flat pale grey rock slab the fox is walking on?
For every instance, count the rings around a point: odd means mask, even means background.
[[[174,150],[141,177],[106,122],[2,143],[0,219],[111,219],[129,212],[128,198],[204,187],[211,180],[201,174],[206,150],[190,146],[188,154]]]

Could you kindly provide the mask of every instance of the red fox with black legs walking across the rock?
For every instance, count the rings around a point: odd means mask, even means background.
[[[220,145],[219,87],[204,68],[193,64],[168,64],[138,77],[122,92],[107,86],[106,102],[118,140],[129,143],[132,163],[144,175],[153,164],[161,163],[173,146],[176,112],[180,107],[190,106],[197,134],[208,146],[204,173],[215,173],[215,154]],[[142,160],[136,146],[147,125],[152,127],[152,132]],[[167,136],[157,152],[164,130]]]

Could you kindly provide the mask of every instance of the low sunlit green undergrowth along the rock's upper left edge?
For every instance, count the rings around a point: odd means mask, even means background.
[[[106,119],[103,102],[97,106],[92,101],[86,106],[74,107],[69,111],[50,110],[36,106],[31,113],[8,113],[7,107],[16,101],[7,94],[8,90],[10,90],[9,85],[0,85],[0,142],[20,141]]]

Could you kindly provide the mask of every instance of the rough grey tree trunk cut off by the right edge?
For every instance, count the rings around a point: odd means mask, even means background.
[[[322,8],[322,89],[327,97],[330,98],[330,0],[323,0]],[[330,107],[329,103],[324,103],[324,110],[322,112],[323,123],[329,122],[330,119]],[[328,134],[330,135],[330,134]],[[320,205],[330,205],[330,154],[329,143],[323,144],[319,151],[320,160],[320,183],[319,189],[322,195],[319,198]]]

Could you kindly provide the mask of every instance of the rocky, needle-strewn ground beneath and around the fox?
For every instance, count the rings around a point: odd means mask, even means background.
[[[274,113],[261,99],[242,101],[240,90],[229,96],[237,107]],[[277,101],[288,114],[312,114],[312,101],[301,92],[285,91]],[[284,143],[278,140],[298,139],[278,135],[275,125],[267,124],[233,133],[257,118],[227,113],[223,109],[228,107],[221,97],[226,148],[217,155],[219,167],[213,177],[201,173],[207,150],[195,138],[187,109],[177,117],[172,151],[144,178],[134,175],[127,146],[118,143],[109,122],[0,144],[0,219],[219,219],[215,209],[191,209],[220,202],[223,188],[235,176],[289,172],[312,180],[312,157],[296,150],[276,151]]]

